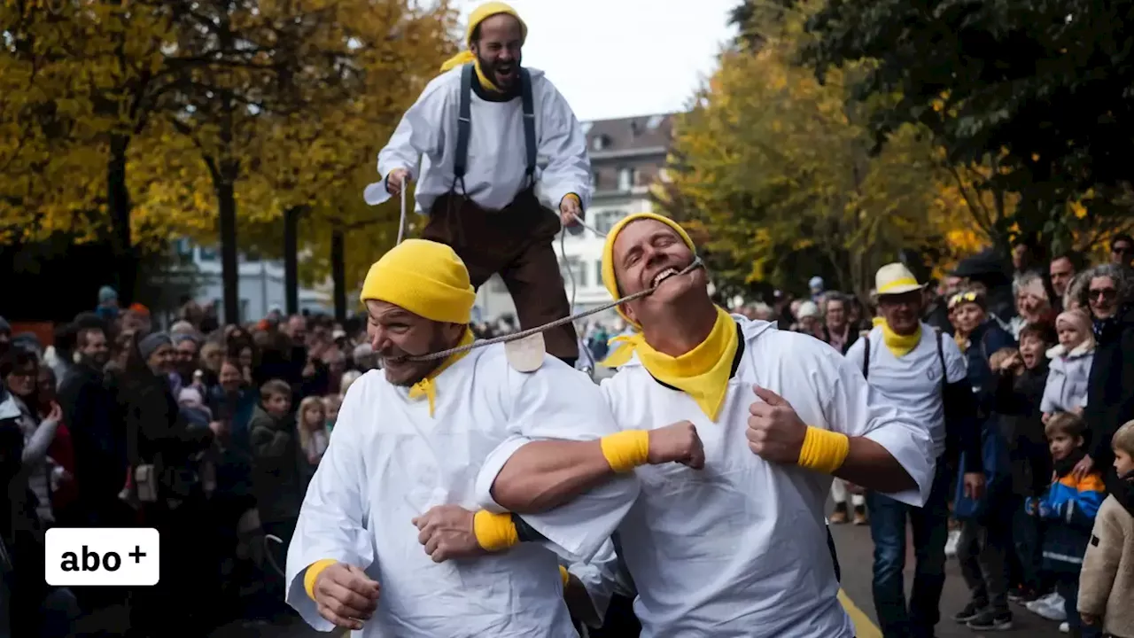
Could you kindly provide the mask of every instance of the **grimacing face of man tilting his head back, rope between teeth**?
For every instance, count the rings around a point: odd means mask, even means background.
[[[640,293],[660,284],[653,294],[623,304],[623,312],[632,321],[648,322],[683,299],[709,294],[703,268],[678,275],[695,255],[667,224],[655,219],[631,221],[618,233],[611,252],[620,294]]]

